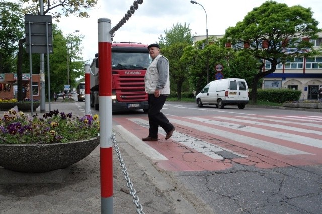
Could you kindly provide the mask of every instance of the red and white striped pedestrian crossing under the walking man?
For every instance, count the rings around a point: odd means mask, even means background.
[[[233,164],[273,168],[322,164],[322,116],[169,116],[173,136],[159,129],[158,142],[143,142],[166,157],[166,170],[222,170]],[[137,138],[146,137],[146,116],[117,118]],[[160,138],[160,136],[163,136]],[[153,160],[153,157],[150,157]]]

